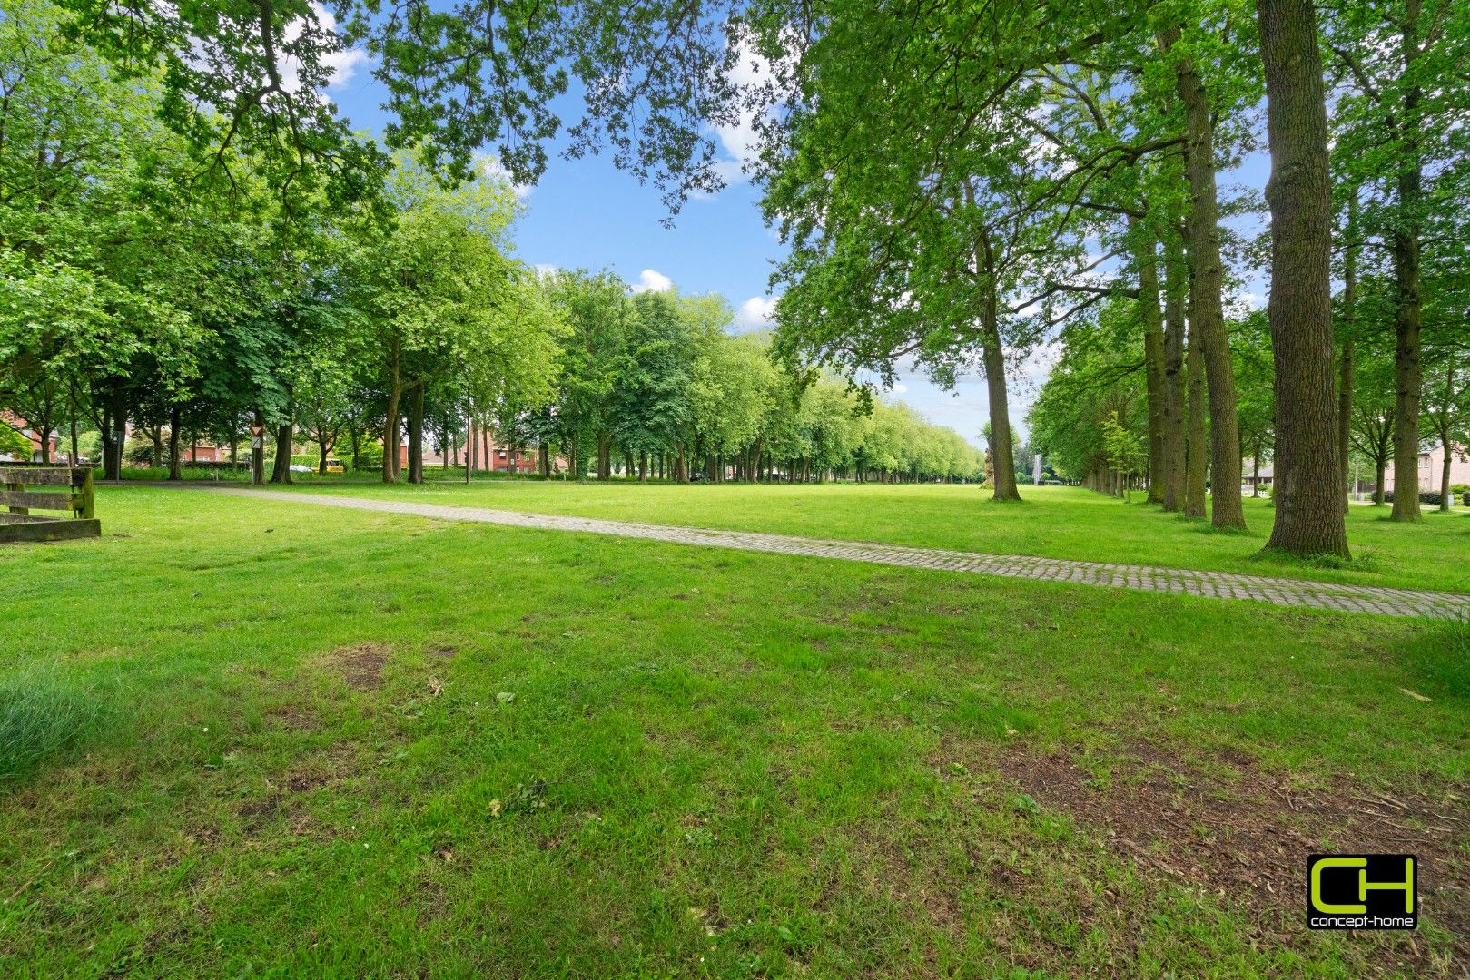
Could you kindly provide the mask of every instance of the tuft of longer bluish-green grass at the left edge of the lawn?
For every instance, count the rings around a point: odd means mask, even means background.
[[[91,695],[54,677],[28,671],[0,682],[0,788],[82,745],[100,718]]]

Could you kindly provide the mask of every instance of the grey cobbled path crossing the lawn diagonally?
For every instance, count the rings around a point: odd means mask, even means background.
[[[218,494],[278,500],[293,504],[318,504],[323,507],[350,507],[353,510],[378,510],[392,514],[415,514],[440,520],[470,520],[513,527],[535,527],[539,530],[579,530],[592,535],[614,535],[619,538],[645,538],[669,541],[681,545],[706,548],[736,548],[741,551],[770,551],[775,554],[806,555],[813,558],[842,558],[845,561],[869,561],[894,564],[906,569],[936,569],[941,572],[970,572],[975,574],[997,574],[1010,579],[1035,579],[1039,582],[1070,582],[1078,585],[1102,585],[1145,592],[1182,592],[1220,599],[1255,599],[1276,605],[1305,605],[1317,610],[1341,610],[1348,613],[1379,613],[1383,616],[1424,616],[1436,619],[1470,619],[1470,595],[1454,592],[1419,592],[1413,589],[1383,589],[1366,585],[1335,585],[1330,582],[1304,582],[1301,579],[1270,579],[1229,572],[1191,572],[1183,569],[1155,569],[1135,564],[1104,564],[1097,561],[1069,561],[1064,558],[1032,558],[1028,555],[989,555],[975,551],[944,551],[939,548],[906,548],[901,545],[878,545],[860,541],[822,541],[819,538],[795,538],[791,535],[763,535],[748,530],[713,530],[709,527],[676,527],[673,525],[639,525],[625,520],[598,520],[595,517],[567,517],[562,514],[528,514],[513,510],[488,510],[484,507],[447,507],[444,504],[416,504],[403,500],[370,500],[363,497],[338,497],[329,494],[294,494],[290,491],[247,491],[218,488]]]

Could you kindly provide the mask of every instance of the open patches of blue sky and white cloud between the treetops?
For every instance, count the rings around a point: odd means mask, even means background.
[[[379,132],[388,119],[379,109],[384,90],[373,81],[363,53],[345,51],[334,60],[338,73],[328,94],[354,128]],[[563,120],[575,120],[579,104],[569,100],[560,115]],[[761,220],[760,195],[739,175],[738,154],[748,137],[739,131],[713,135],[726,159],[731,185],[688,201],[673,228],[662,223],[666,209],[659,191],[641,187],[609,157],[563,160],[553,154],[541,182],[522,188],[519,257],[534,266],[612,269],[634,287],[719,292],[736,310],[736,329],[761,326],[772,309],[767,294],[772,263],[784,254],[784,247]],[[1261,156],[1247,159],[1235,173],[1222,175],[1222,191],[1229,192],[1232,182],[1264,187],[1267,167]],[[1248,282],[1242,301],[1263,306],[1264,285]],[[1026,410],[1045,381],[1051,357],[1053,351],[1044,348],[1011,373],[1011,425],[1023,436]],[[900,375],[891,395],[931,422],[983,445],[980,429],[989,411],[979,375],[961,376],[953,392],[922,375]]]

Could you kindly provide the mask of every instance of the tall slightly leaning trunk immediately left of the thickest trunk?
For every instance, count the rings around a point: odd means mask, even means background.
[[[1179,29],[1161,35],[1167,50]],[[1216,527],[1245,527],[1241,504],[1241,429],[1236,422],[1235,364],[1225,329],[1220,260],[1220,201],[1214,179],[1214,122],[1210,97],[1194,62],[1175,62],[1175,88],[1185,107],[1185,172],[1189,179],[1191,323],[1200,331],[1210,395],[1210,519]]]

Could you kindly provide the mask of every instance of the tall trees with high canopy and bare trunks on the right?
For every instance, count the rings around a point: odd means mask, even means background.
[[[1464,331],[1448,295],[1470,241],[1470,7],[775,4],[744,38],[769,68],[756,170],[792,244],[788,354],[885,375],[917,363],[941,382],[982,370],[1003,461],[1007,367],[1058,329],[1127,323],[1151,500],[1191,508],[1191,464],[1205,464],[1214,525],[1244,527],[1254,408],[1226,313],[1269,266],[1270,547],[1345,555],[1339,397],[1355,401],[1360,332],[1333,331],[1336,257],[1339,322],[1366,328],[1363,284],[1383,287],[1394,517],[1417,519],[1426,345]],[[1270,229],[1252,237],[1239,229],[1261,198],[1220,175],[1263,145]],[[1086,316],[1111,303],[1129,309]],[[998,500],[1016,497],[1005,470]]]

